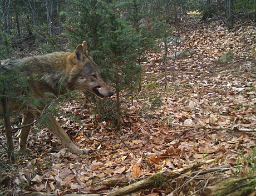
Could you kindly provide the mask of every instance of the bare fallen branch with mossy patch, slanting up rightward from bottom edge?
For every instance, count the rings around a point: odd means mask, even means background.
[[[214,159],[211,159],[211,160],[206,160],[206,162],[200,162],[185,168],[175,169],[170,172],[159,172],[154,175],[151,175],[149,178],[146,178],[134,184],[128,185],[127,187],[123,187],[121,189],[115,190],[114,192],[107,194],[107,196],[125,195],[125,194],[137,192],[138,190],[141,190],[141,189],[161,187],[161,185],[166,185],[169,179],[176,178],[181,174],[184,174],[186,172],[189,172],[190,170],[200,167],[201,165],[213,163],[213,162],[214,162]]]

